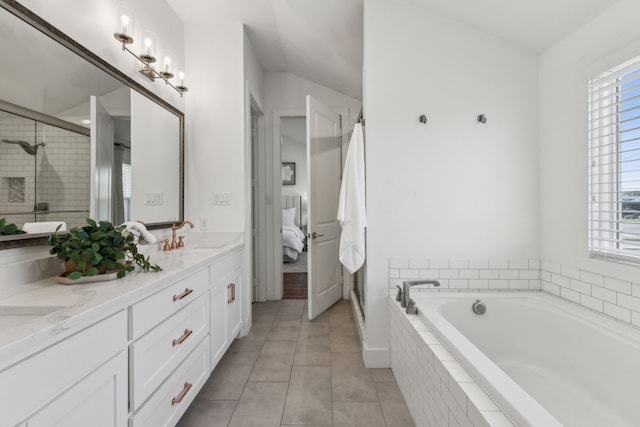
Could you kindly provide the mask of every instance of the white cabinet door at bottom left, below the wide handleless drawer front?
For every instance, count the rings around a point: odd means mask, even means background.
[[[29,427],[126,427],[127,354],[122,352],[28,420]]]

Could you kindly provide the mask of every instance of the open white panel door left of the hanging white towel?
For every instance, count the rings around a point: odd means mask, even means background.
[[[342,298],[338,261],[342,129],[340,116],[307,96],[308,309],[314,319]]]

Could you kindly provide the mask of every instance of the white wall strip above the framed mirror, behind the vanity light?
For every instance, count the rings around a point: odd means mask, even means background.
[[[114,39],[118,8],[123,2],[93,0],[79,4],[75,0],[21,0],[20,3],[165,101],[184,110],[184,98],[164,83],[153,83],[140,74],[135,59],[122,52],[120,43]],[[157,39],[156,55],[160,58],[161,52],[168,50],[174,69],[184,70],[184,24],[171,6],[154,0],[128,0],[126,6],[135,16],[134,44],[129,45],[130,48],[134,52],[141,48],[142,31],[151,30]],[[185,84],[189,86],[189,70],[186,77]]]

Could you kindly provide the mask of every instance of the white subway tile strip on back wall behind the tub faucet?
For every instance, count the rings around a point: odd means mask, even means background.
[[[389,260],[389,288],[405,280],[436,279],[447,290],[540,290],[538,259],[400,259]],[[430,289],[415,286],[411,292]]]

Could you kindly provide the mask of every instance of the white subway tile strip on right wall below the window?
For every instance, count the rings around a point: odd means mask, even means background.
[[[543,261],[542,290],[640,327],[640,284]]]

